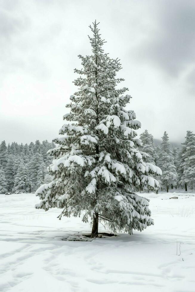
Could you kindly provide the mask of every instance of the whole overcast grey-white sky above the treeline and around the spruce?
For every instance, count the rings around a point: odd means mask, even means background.
[[[95,19],[141,131],[178,142],[195,131],[194,0],[0,0],[1,141],[58,136]]]

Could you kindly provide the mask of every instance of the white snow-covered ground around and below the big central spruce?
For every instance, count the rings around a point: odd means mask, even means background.
[[[194,292],[195,196],[141,195],[154,226],[87,242],[62,240],[90,231],[80,218],[34,209],[33,194],[0,195],[0,291]]]

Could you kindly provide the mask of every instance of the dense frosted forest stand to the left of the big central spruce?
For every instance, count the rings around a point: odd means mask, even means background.
[[[0,193],[5,192],[35,192],[44,183],[52,180],[47,173],[47,166],[52,163],[52,157],[47,151],[55,147],[55,143],[47,140],[42,143],[23,145],[12,142],[0,145]]]

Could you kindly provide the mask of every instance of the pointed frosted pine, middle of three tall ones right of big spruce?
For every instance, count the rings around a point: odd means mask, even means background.
[[[161,151],[159,152],[157,159],[157,164],[162,170],[161,181],[167,192],[169,191],[170,186],[175,186],[177,184],[177,172],[168,140],[169,137],[165,131],[164,135],[162,136],[162,143],[160,147]]]

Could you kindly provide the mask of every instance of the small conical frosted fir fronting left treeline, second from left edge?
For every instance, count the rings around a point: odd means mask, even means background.
[[[14,186],[13,190],[20,192],[27,192],[28,190],[28,173],[27,168],[24,165],[23,161],[21,161],[17,173],[14,178]]]

